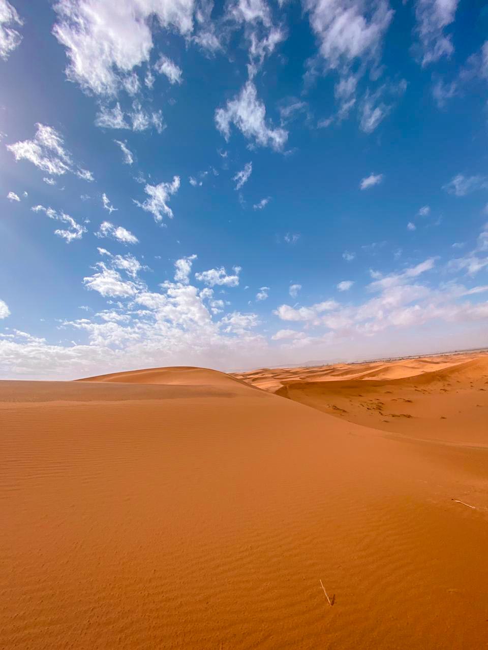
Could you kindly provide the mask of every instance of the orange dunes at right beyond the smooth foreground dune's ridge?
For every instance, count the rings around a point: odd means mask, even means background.
[[[340,419],[412,438],[488,447],[488,355],[237,375]],[[286,378],[285,378],[286,377]]]

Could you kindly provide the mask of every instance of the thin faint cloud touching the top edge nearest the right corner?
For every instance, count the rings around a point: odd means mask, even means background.
[[[459,0],[416,0],[415,16],[422,66],[454,52],[451,36],[444,29],[454,23]]]

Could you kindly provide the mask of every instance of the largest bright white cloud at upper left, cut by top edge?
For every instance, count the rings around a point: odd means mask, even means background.
[[[193,8],[193,0],[59,0],[53,34],[66,47],[68,79],[85,92],[115,96],[129,73],[150,58],[152,17],[187,36]]]

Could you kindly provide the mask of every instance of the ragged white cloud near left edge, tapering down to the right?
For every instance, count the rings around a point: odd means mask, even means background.
[[[12,151],[16,161],[31,161],[47,174],[62,175],[72,172],[87,181],[93,180],[91,172],[74,165],[72,156],[64,149],[64,140],[56,129],[40,123],[36,124],[36,129],[32,140],[7,144],[7,149]]]

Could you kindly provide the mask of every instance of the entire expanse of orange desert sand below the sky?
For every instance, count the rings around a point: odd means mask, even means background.
[[[486,648],[487,488],[488,355],[0,382],[0,647]]]

